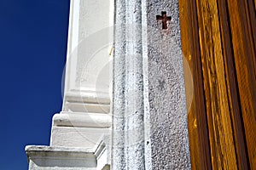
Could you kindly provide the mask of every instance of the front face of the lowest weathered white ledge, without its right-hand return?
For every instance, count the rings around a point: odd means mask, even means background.
[[[96,170],[91,149],[51,146],[26,146],[30,170]]]

